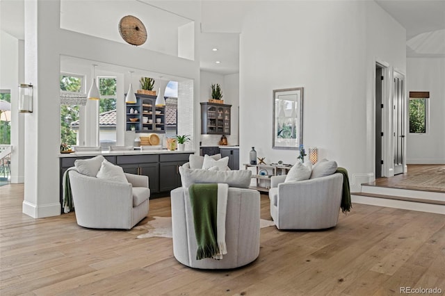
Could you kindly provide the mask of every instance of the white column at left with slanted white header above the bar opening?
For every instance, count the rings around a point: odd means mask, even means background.
[[[191,4],[196,6],[195,11],[200,11],[197,3]],[[198,31],[195,26],[195,36]],[[199,90],[199,62],[63,30],[60,1],[25,1],[24,56],[25,81],[35,85],[35,111],[27,114],[25,120],[26,144],[33,149],[25,151],[23,204],[23,212],[32,217],[60,214],[59,188],[54,186],[54,180],[59,179],[60,108],[54,99],[59,96],[60,56],[193,79],[195,93]],[[87,89],[90,83],[88,79]]]

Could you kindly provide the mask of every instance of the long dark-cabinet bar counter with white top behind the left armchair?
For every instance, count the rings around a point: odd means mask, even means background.
[[[188,162],[195,151],[128,150],[128,151],[79,151],[60,154],[60,204],[63,204],[63,173],[74,166],[76,159],[102,155],[107,161],[122,167],[129,174],[148,176],[151,197],[165,197],[170,190],[181,186],[179,166]]]

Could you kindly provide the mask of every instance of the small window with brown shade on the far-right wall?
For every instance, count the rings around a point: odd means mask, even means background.
[[[429,128],[430,92],[410,92],[410,133],[423,134]]]

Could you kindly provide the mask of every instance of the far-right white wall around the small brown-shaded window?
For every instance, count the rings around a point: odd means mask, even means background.
[[[430,92],[429,129],[407,133],[407,163],[445,163],[445,58],[408,58],[407,94]]]

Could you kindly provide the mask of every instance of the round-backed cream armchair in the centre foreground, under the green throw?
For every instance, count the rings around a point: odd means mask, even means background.
[[[187,190],[176,188],[171,192],[173,254],[177,261],[201,269],[238,268],[254,261],[259,255],[259,192],[229,187],[225,220],[227,254],[221,260],[197,260],[193,211]]]

